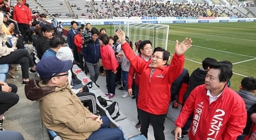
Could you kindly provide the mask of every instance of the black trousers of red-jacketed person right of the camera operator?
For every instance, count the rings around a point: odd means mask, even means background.
[[[116,75],[112,70],[106,70],[106,83],[107,83],[107,92],[111,94],[116,94]]]

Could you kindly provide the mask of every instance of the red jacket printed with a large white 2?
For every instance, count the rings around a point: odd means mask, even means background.
[[[236,140],[246,126],[244,100],[227,86],[216,101],[209,103],[205,85],[197,86],[185,102],[175,125],[183,127],[194,113],[190,140]]]

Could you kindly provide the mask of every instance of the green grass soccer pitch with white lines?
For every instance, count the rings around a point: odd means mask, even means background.
[[[92,27],[96,27],[98,30],[106,28],[107,35],[111,34],[110,26]],[[111,32],[113,36],[114,26],[112,26]],[[136,33],[139,37],[138,34],[139,31]],[[145,34],[145,31],[142,31],[141,34]],[[201,62],[204,58],[212,57],[218,61],[229,60],[233,63],[234,74],[231,78],[231,88],[234,90],[239,89],[240,81],[244,76],[256,77],[254,71],[256,68],[255,22],[169,24],[167,50],[173,54],[174,41],[181,42],[185,37],[193,40],[193,46],[185,53],[187,60],[184,68],[187,68],[190,74],[197,67],[202,67]],[[158,41],[161,42],[160,34],[158,38]],[[136,40],[138,39],[140,38]]]

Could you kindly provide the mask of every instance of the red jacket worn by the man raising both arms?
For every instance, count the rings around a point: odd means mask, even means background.
[[[141,74],[138,108],[155,115],[166,114],[170,104],[171,83],[182,73],[184,55],[174,54],[170,66],[155,69],[150,79],[151,60],[145,62],[136,56],[128,43],[123,44],[122,49],[135,70]]]

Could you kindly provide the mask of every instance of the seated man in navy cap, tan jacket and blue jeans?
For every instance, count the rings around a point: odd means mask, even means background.
[[[110,120],[91,113],[72,92],[67,71],[72,61],[47,57],[37,64],[40,81],[31,80],[25,87],[30,100],[40,100],[44,125],[63,140],[124,140],[119,128],[108,128]]]

